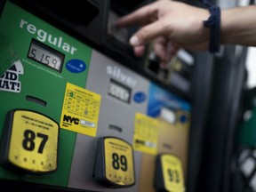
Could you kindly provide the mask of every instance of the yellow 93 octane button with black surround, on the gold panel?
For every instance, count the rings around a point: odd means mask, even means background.
[[[156,156],[154,186],[160,191],[184,192],[184,179],[180,158],[172,154]]]

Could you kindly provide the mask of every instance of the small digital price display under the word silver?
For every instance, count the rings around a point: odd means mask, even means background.
[[[122,100],[126,103],[130,103],[131,92],[131,88],[115,81],[114,79],[110,79],[108,85],[108,95],[111,95],[112,97],[118,100]]]

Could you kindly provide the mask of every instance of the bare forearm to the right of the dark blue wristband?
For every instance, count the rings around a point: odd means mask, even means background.
[[[222,10],[221,44],[256,46],[256,5]]]

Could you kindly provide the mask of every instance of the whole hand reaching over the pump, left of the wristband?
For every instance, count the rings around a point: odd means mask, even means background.
[[[180,47],[191,51],[208,50],[209,28],[204,28],[209,12],[188,4],[159,0],[125,15],[117,21],[119,28],[139,24],[141,28],[131,37],[134,53],[141,56],[145,44],[152,42],[156,56],[164,66]]]

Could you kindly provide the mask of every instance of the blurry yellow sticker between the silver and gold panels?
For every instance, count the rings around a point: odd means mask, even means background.
[[[157,129],[156,118],[137,113],[135,115],[133,148],[141,152],[156,155],[157,153]]]

